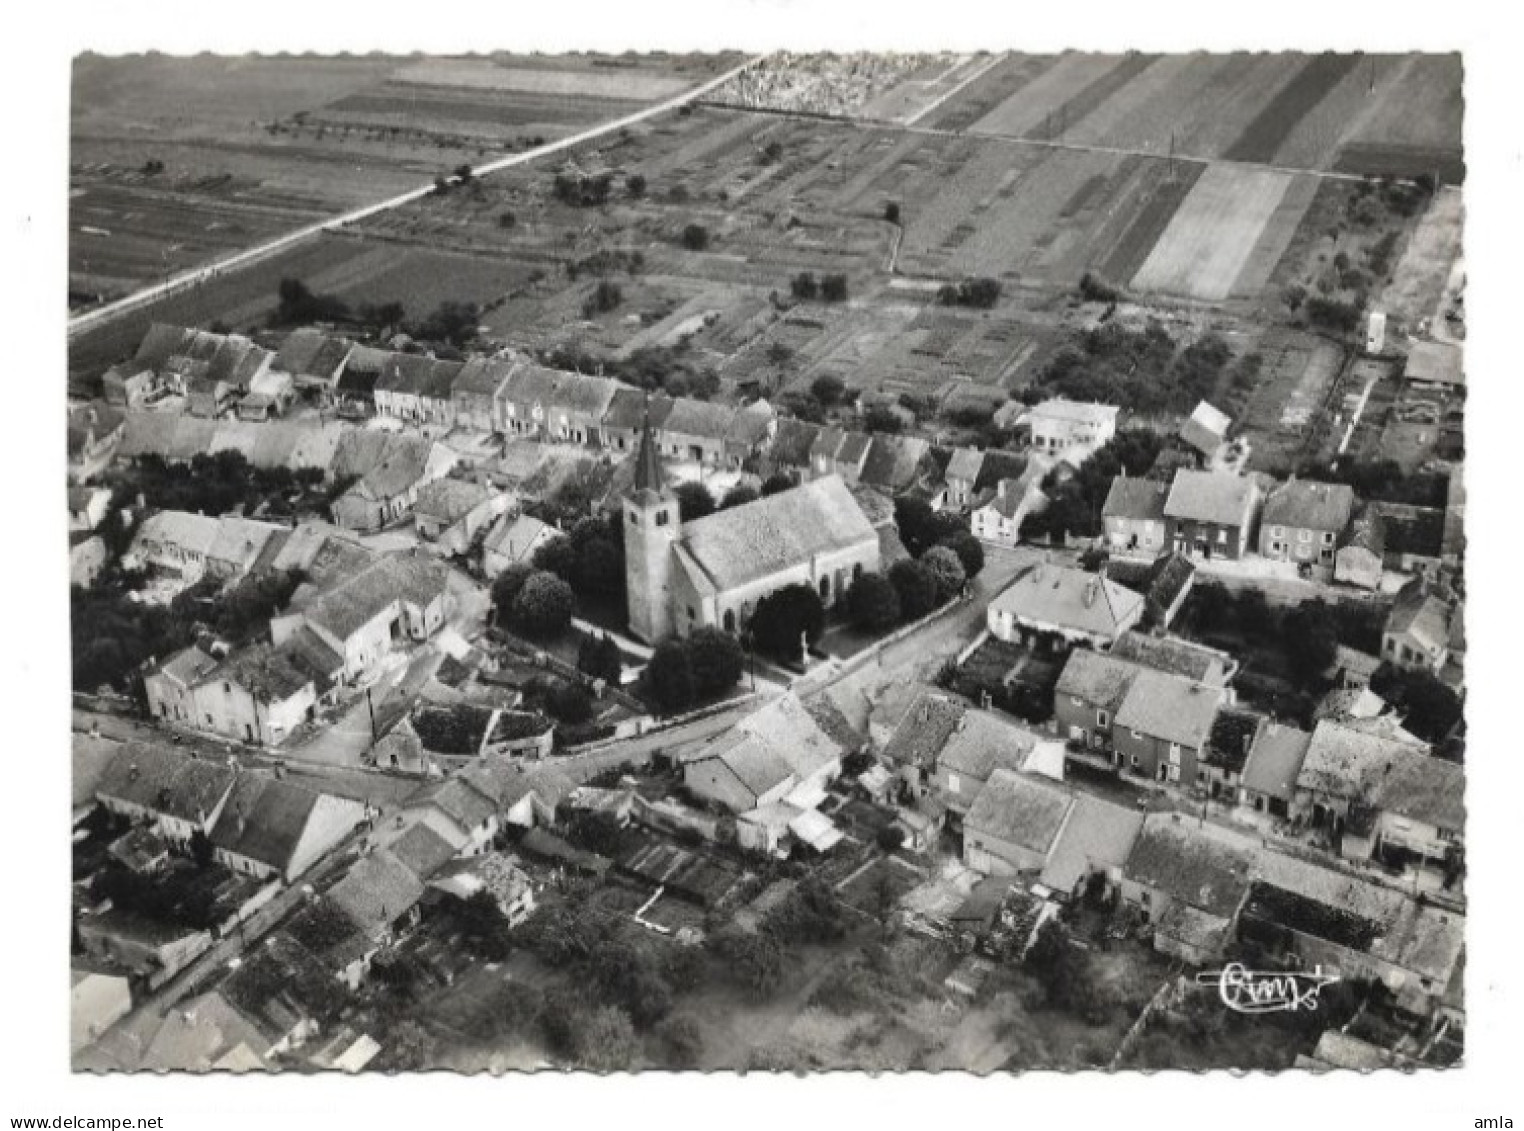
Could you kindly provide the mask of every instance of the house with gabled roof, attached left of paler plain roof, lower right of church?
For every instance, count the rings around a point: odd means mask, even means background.
[[[992,771],[963,819],[963,863],[988,875],[1041,872],[1073,803],[1045,777]]]

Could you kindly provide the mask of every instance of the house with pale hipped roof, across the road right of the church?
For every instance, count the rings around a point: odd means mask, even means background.
[[[989,602],[989,633],[1023,645],[1108,648],[1143,616],[1143,598],[1099,573],[1041,562]]]

